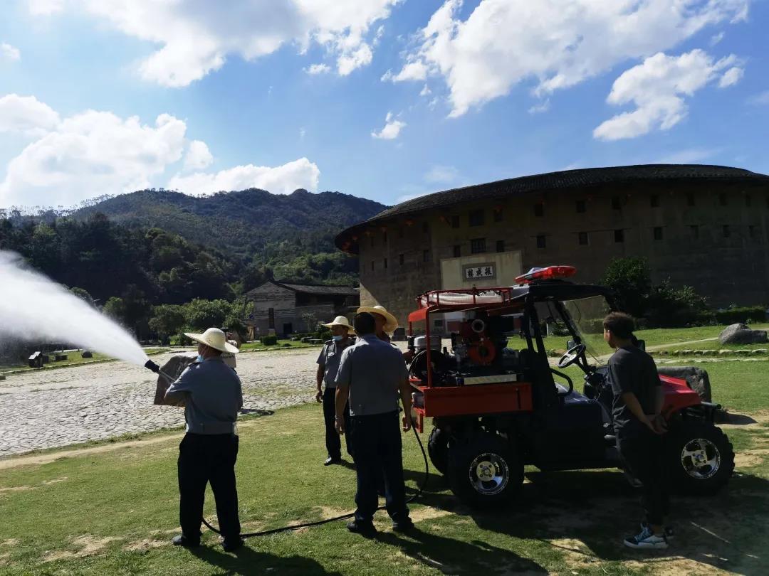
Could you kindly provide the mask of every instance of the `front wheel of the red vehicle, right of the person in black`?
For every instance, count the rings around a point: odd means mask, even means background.
[[[682,422],[666,439],[674,492],[712,495],[734,472],[734,449],[724,432],[708,422]]]

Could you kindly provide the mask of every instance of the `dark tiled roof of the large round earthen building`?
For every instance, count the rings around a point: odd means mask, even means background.
[[[351,237],[359,230],[381,220],[418,214],[432,208],[450,207],[466,202],[494,200],[536,192],[565,191],[574,188],[594,187],[601,184],[621,184],[643,180],[680,181],[682,183],[691,180],[724,180],[731,182],[744,181],[769,186],[769,176],[765,174],[757,174],[741,168],[702,164],[641,164],[638,166],[564,170],[548,174],[509,178],[508,180],[498,180],[476,186],[454,188],[453,190],[445,190],[414,198],[413,200],[408,200],[388,208],[364,222],[349,227],[338,234],[335,242],[341,250],[357,252],[357,242],[352,241]]]

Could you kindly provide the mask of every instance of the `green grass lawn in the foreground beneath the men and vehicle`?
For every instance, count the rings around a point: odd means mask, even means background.
[[[321,465],[321,432],[318,406],[241,425],[244,531],[354,507],[355,472]],[[729,434],[743,452],[761,454],[769,442],[766,427]],[[350,534],[340,521],[254,538],[235,555],[225,554],[208,531],[195,551],[168,545],[178,529],[178,438],[155,434],[111,448],[0,468],[0,574],[672,574],[711,567],[763,574],[767,562],[766,455],[745,459],[715,498],[677,499],[677,541],[666,554],[621,546],[640,509],[619,472],[532,469],[522,497],[508,509],[471,511],[441,477],[431,476],[411,505],[414,535],[394,534],[379,512],[374,540]],[[411,432],[404,437],[404,468],[413,488],[423,465]],[[209,494],[209,518],[213,510]]]

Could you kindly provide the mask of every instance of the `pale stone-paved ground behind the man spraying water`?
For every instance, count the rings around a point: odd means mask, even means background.
[[[243,353],[245,409],[276,409],[315,396],[318,348]],[[153,356],[163,364],[172,356]],[[153,406],[155,375],[126,362],[23,372],[0,382],[0,457],[184,424],[184,411]]]

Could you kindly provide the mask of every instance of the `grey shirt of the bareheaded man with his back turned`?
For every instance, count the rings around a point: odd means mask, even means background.
[[[408,368],[401,351],[367,334],[341,354],[336,382],[350,387],[350,415],[368,416],[398,410],[398,386],[404,379]]]

